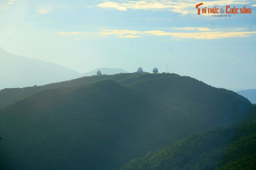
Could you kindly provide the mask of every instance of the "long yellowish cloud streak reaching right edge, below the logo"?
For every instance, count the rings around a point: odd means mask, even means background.
[[[160,30],[152,31],[134,31],[134,30],[112,30],[102,29],[100,32],[58,32],[61,35],[71,37],[74,40],[84,40],[92,37],[101,36],[115,36],[118,38],[139,38],[143,36],[171,36],[182,39],[224,39],[234,37],[252,37],[256,36],[256,31],[246,32],[242,31],[244,28],[230,28],[226,30],[210,29],[204,27],[177,27],[171,28],[172,32],[165,32]],[[179,32],[177,32],[179,31]],[[184,32],[185,31],[185,32]]]

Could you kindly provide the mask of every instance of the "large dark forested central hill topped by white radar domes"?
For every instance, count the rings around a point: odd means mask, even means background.
[[[118,169],[191,133],[255,115],[237,93],[177,74],[100,75],[53,85],[65,84],[0,108],[1,169]]]

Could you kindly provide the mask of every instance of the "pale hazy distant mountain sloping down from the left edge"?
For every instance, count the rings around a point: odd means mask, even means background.
[[[13,55],[0,48],[0,89],[44,85],[82,77],[58,64]]]

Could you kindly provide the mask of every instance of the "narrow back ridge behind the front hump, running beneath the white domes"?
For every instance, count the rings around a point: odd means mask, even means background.
[[[16,100],[20,100],[35,92],[40,92],[46,89],[58,88],[58,87],[71,87],[77,85],[89,84],[99,80],[113,80],[119,84],[130,84],[142,79],[160,78],[160,77],[173,77],[179,76],[178,74],[115,74],[115,75],[100,75],[100,76],[89,76],[82,77],[73,80],[67,80],[59,83],[51,83],[42,86],[24,87],[24,88],[6,88],[0,90],[0,107],[3,107]]]

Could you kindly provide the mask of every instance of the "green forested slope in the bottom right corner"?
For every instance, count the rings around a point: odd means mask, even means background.
[[[256,123],[217,128],[169,145],[140,159],[133,159],[120,170],[225,170],[256,169]]]

